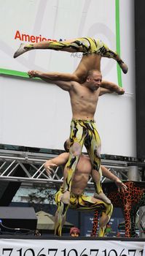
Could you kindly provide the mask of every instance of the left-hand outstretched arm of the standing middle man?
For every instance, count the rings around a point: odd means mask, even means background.
[[[47,83],[55,83],[56,86],[59,86],[64,91],[70,91],[71,87],[72,87],[71,81],[62,81],[62,80],[58,80],[58,78],[56,78],[56,80],[51,80],[50,77],[47,76],[46,72],[41,72],[41,71],[37,71],[37,70],[29,70],[28,76],[30,78],[41,78],[42,80],[44,80]]]

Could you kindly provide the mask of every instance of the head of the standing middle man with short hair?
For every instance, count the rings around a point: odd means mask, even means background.
[[[99,72],[96,69],[91,69],[87,73],[87,87],[90,90],[97,90],[101,86],[101,81],[102,81],[102,75],[101,72]]]

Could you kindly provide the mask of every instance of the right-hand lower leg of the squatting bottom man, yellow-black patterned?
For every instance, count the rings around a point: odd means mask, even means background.
[[[111,214],[113,211],[112,204],[106,204],[106,211],[103,211],[101,214],[101,218],[99,221],[99,230],[98,230],[98,237],[103,237],[106,229],[106,225],[111,218]]]

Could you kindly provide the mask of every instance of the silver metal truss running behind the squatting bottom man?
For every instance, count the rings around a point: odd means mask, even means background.
[[[63,182],[63,167],[52,170],[51,177],[47,176],[44,162],[57,157],[58,154],[42,154],[24,151],[0,150],[0,181],[19,181],[23,184],[45,184],[53,187]],[[102,159],[102,165],[108,167],[112,173],[123,180],[128,180],[128,162]],[[18,170],[18,171],[17,171]],[[20,170],[20,171],[19,171]],[[19,173],[21,173],[19,175]],[[23,173],[23,175],[22,175]],[[103,182],[106,178],[103,178]],[[88,187],[92,187],[92,178]]]

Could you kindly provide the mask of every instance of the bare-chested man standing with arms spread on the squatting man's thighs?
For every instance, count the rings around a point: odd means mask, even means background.
[[[51,80],[45,78],[43,72],[28,71],[28,75],[41,78],[48,83]],[[97,127],[94,120],[94,114],[98,103],[98,97],[105,93],[113,91],[117,94],[124,94],[124,90],[114,83],[102,82],[101,72],[90,70],[85,83],[77,83],[75,81],[59,81],[53,83],[61,89],[68,91],[71,99],[71,133],[70,133],[70,150],[69,158],[66,163],[67,176],[64,181],[63,203],[69,203],[71,181],[74,176],[74,171],[82,153],[82,147],[85,145],[87,153],[92,162],[93,170],[96,170],[96,190],[98,199],[106,203],[110,203],[106,195],[103,194],[101,188],[101,140],[97,132]],[[106,89],[102,88],[106,87]]]

